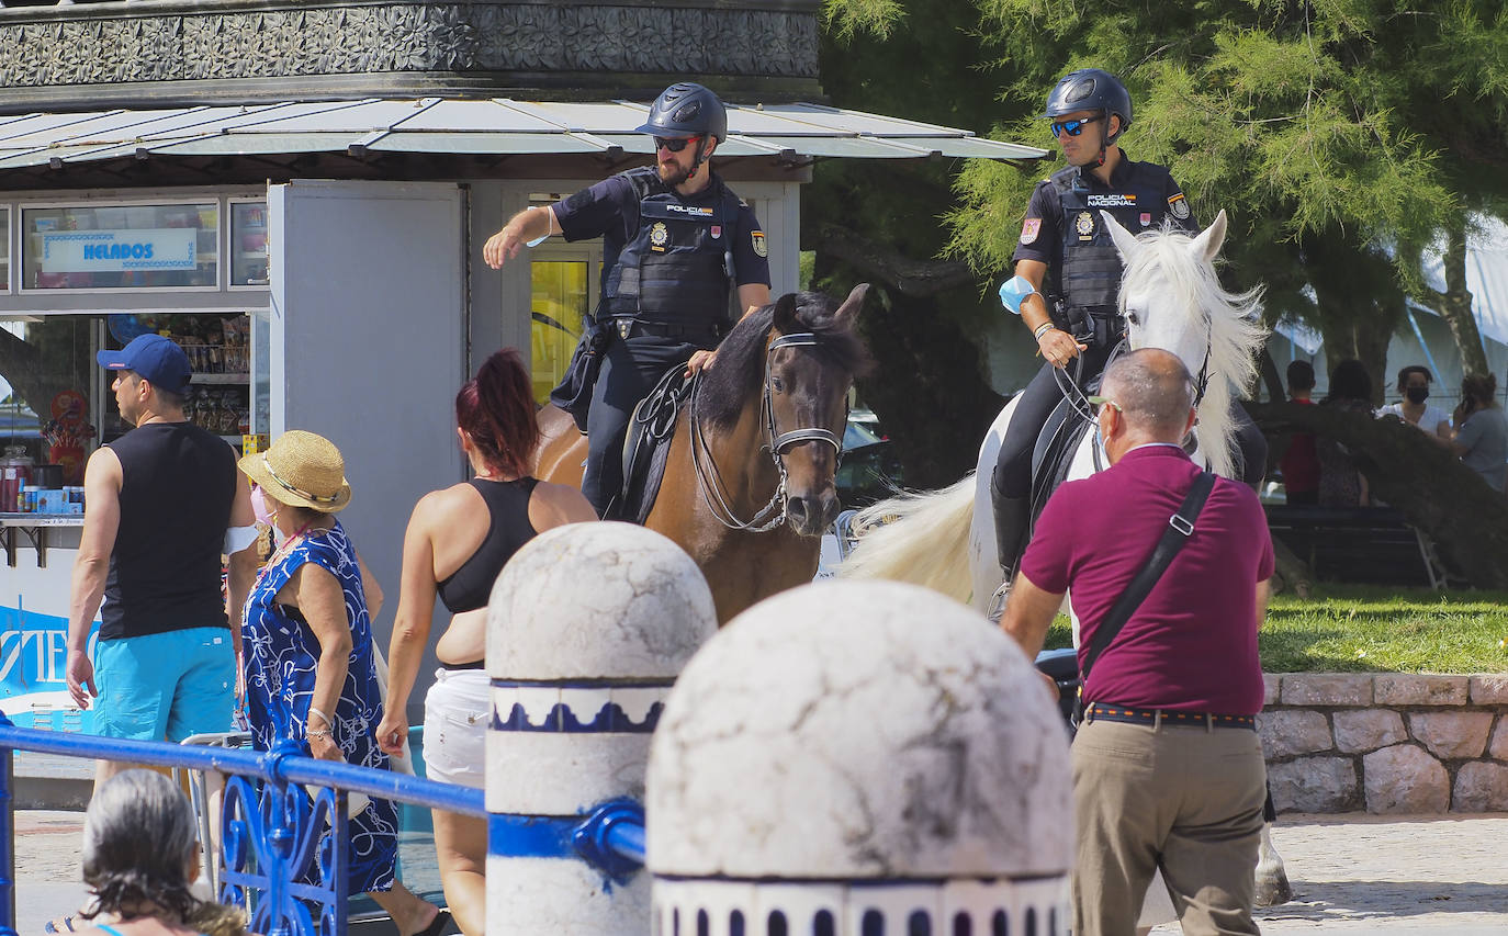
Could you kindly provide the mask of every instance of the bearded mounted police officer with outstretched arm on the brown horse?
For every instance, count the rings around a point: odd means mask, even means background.
[[[769,303],[765,232],[709,160],[728,136],[722,101],[700,84],[665,89],[638,133],[654,166],[620,172],[550,206],[508,220],[483,247],[498,268],[552,234],[603,238],[597,327],[606,348],[587,416],[582,493],[602,514],[623,484],[618,452],[633,407],[671,368],[712,366],[728,330],[728,297],[748,314]]]

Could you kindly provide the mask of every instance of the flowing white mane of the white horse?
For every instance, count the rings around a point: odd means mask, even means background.
[[[1209,386],[1199,404],[1200,448],[1209,467],[1226,478],[1241,479],[1241,449],[1231,421],[1231,405],[1246,398],[1258,375],[1256,353],[1267,341],[1267,329],[1259,323],[1262,288],[1231,292],[1220,285],[1214,262],[1202,261],[1190,250],[1193,237],[1164,223],[1161,229],[1137,235],[1137,250],[1123,258],[1125,276],[1120,285],[1120,312],[1125,314],[1129,283],[1163,277],[1167,297],[1185,297],[1181,309],[1190,327],[1209,326]],[[1176,304],[1176,303],[1175,303]],[[1185,362],[1199,378],[1197,363]]]

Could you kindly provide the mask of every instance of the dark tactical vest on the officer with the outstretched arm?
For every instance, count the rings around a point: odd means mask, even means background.
[[[609,317],[654,323],[724,324],[736,282],[737,196],[716,181],[716,197],[688,205],[653,184],[653,167],[636,169],[629,179],[641,193],[639,229],[608,271],[603,309]]]

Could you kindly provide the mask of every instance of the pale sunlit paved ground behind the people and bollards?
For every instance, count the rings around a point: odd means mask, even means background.
[[[83,814],[15,815],[17,931],[35,936],[83,898]],[[1508,933],[1508,815],[1285,815],[1273,841],[1297,895],[1261,910],[1264,933]],[[410,861],[404,877],[422,877],[419,865]],[[1178,925],[1155,931],[1178,933]]]

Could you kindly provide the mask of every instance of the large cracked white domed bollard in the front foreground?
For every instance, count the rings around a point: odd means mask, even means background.
[[[661,716],[650,931],[1066,933],[1069,785],[1042,678],[977,612],[888,582],[775,595]]]

